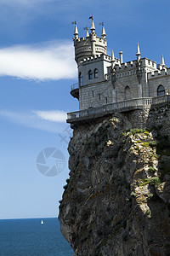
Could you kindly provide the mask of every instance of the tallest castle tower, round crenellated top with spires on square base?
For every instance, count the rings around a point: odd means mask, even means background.
[[[107,67],[111,67],[111,56],[106,55],[105,26],[102,23],[101,37],[98,37],[94,18],[90,17],[89,19],[92,22],[89,34],[87,28],[86,38],[79,37],[76,22],[75,37],[73,38],[75,60],[78,67],[78,86],[77,88],[75,88],[76,86],[72,87],[71,95],[79,100],[80,110],[102,106],[106,102],[111,102],[108,93],[104,91]]]

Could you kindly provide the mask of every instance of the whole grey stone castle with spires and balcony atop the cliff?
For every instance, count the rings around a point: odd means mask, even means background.
[[[106,54],[107,39],[102,24],[101,38],[95,33],[94,18],[90,34],[80,38],[75,22],[74,47],[78,83],[71,86],[71,96],[79,100],[79,111],[68,113],[67,122],[85,119],[117,108],[144,108],[145,105],[169,101],[170,68],[163,55],[161,64],[141,58],[137,44],[136,60],[123,62],[122,51],[117,59]]]

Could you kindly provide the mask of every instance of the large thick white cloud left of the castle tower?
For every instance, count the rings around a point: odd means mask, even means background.
[[[0,49],[0,75],[20,79],[74,79],[77,67],[68,41]]]

